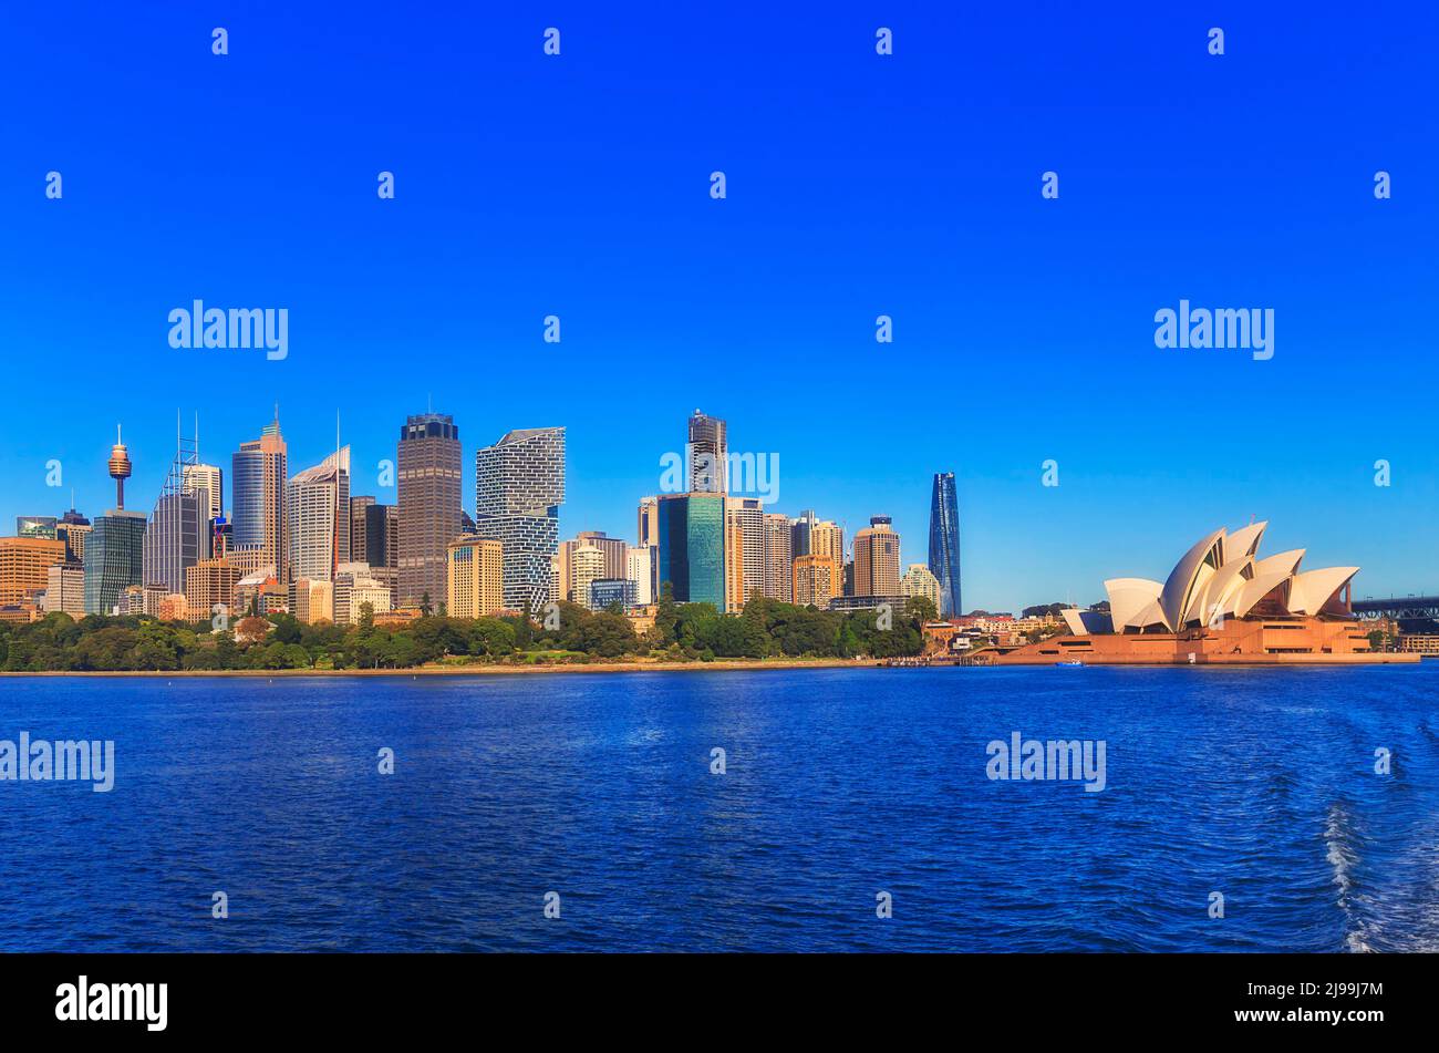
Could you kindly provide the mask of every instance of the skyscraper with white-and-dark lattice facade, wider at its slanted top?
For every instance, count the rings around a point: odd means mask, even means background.
[[[507,432],[475,452],[475,532],[504,548],[507,608],[535,613],[551,600],[563,502],[563,427]]]

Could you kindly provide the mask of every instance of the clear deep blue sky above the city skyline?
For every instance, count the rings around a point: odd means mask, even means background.
[[[1439,13],[1004,7],[7,7],[0,524],[108,508],[117,420],[131,506],[177,409],[229,475],[275,401],[292,470],[340,409],[393,501],[432,397],[466,472],[567,426],[561,529],[632,538],[699,407],[780,455],[780,511],[892,515],[905,562],[954,470],[967,607],[1089,603],[1250,515],[1357,596],[1439,588]],[[288,308],[289,357],[170,348],[194,298]],[[1156,348],[1181,298],[1272,308],[1274,358]]]

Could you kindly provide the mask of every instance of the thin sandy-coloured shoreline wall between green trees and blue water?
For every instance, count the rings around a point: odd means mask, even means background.
[[[878,659],[718,659],[715,662],[594,662],[573,665],[469,665],[414,666],[412,669],[85,669],[43,672],[0,670],[0,678],[22,676],[164,676],[174,679],[204,676],[504,676],[527,673],[702,673],[702,672],[763,672],[766,669],[881,669]]]

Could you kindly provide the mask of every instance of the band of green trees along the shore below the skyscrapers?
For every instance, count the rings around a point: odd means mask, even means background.
[[[925,600],[885,619],[873,611],[827,611],[760,596],[740,614],[708,603],[675,603],[668,591],[655,624],[636,633],[616,610],[561,603],[554,627],[519,616],[452,619],[427,614],[403,626],[360,621],[307,624],[291,614],[210,621],[148,616],[72,619],[52,613],[27,624],[0,623],[0,670],[219,672],[396,670],[420,667],[545,667],[570,665],[711,663],[725,660],[853,660],[920,655]],[[558,623],[557,626],[554,623]]]

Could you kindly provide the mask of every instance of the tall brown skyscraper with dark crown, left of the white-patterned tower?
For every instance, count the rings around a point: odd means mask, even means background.
[[[459,427],[446,413],[406,417],[400,427],[396,502],[400,509],[400,606],[446,596],[446,547],[460,525]]]

